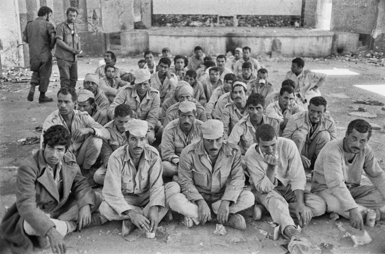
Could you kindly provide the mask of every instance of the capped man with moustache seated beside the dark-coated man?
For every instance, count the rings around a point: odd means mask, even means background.
[[[147,122],[131,119],[125,124],[127,145],[116,149],[108,160],[101,221],[123,220],[121,235],[136,227],[155,232],[168,211],[169,197],[180,192],[176,182],[163,185],[159,153],[147,144]]]

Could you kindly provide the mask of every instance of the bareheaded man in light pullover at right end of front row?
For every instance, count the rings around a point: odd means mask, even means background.
[[[322,197],[327,211],[349,219],[362,230],[368,209],[376,210],[377,219],[385,218],[385,172],[367,144],[371,126],[356,119],[347,126],[344,138],[327,143],[314,165],[311,192]],[[372,185],[361,185],[362,171]]]

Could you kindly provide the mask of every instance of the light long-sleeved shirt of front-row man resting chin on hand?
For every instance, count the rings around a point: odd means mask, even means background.
[[[287,138],[277,137],[277,165],[275,166],[274,182],[267,177],[268,164],[263,161],[263,155],[256,151],[256,144],[251,145],[244,155],[247,170],[261,194],[273,190],[279,180],[283,186],[291,185],[291,190],[304,190],[306,184],[305,171],[298,149],[294,142]],[[257,148],[258,149],[258,148]]]

